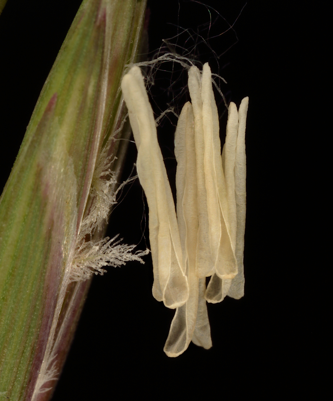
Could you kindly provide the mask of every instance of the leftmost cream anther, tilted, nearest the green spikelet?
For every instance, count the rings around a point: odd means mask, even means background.
[[[178,308],[188,300],[188,279],[183,266],[174,200],[139,67],[131,68],[123,77],[121,89],[137,146],[137,174],[149,207],[153,296],[168,308]]]

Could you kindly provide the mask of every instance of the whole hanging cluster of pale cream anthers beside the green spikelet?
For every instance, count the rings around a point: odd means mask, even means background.
[[[248,97],[230,103],[221,154],[218,110],[208,63],[188,72],[191,102],[178,120],[177,217],[153,111],[141,71],[133,67],[121,89],[138,150],[137,172],[149,207],[153,296],[176,308],[164,352],[182,354],[191,340],[210,348],[206,301],[244,295],[246,213],[245,127]],[[210,282],[206,289],[206,277]]]

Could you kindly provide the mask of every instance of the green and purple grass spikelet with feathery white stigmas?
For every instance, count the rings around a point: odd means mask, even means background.
[[[141,260],[103,239],[123,154],[120,81],[145,0],[84,0],[0,198],[0,395],[47,400],[91,275]]]

